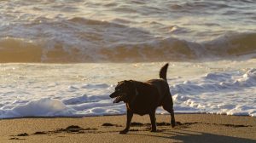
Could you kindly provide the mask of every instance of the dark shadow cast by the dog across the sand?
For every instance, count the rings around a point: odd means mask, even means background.
[[[133,134],[133,133],[129,133]],[[134,133],[135,134],[135,133]],[[208,134],[203,132],[195,132],[183,129],[175,129],[173,131],[160,132],[158,134],[141,134],[137,135],[151,136],[166,138],[171,140],[177,140],[177,142],[183,143],[255,143],[255,140],[243,139],[232,136],[218,135],[218,134]]]

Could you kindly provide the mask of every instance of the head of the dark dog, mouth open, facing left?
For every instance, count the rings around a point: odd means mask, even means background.
[[[109,95],[110,98],[115,98],[113,103],[119,103],[120,101],[124,101],[125,103],[129,102],[129,100],[133,99],[133,96],[137,94],[137,89],[135,88],[134,83],[132,81],[121,81],[115,87],[115,91]]]

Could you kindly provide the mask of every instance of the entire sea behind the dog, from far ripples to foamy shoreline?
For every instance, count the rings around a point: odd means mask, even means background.
[[[255,15],[254,0],[0,1],[0,118],[124,114],[117,82],[166,62],[176,113],[256,117]]]

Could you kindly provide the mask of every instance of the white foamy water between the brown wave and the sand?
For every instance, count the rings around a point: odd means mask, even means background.
[[[157,78],[163,64],[3,64],[0,117],[125,114],[125,104],[113,104],[109,98],[117,82]],[[167,80],[174,111],[255,117],[255,64],[256,60],[170,63]],[[160,107],[157,113],[167,112]]]

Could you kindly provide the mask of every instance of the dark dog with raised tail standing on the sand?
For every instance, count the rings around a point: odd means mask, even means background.
[[[160,69],[160,79],[151,79],[145,83],[134,80],[119,82],[113,94],[110,94],[111,98],[116,98],[113,103],[120,101],[126,103],[126,128],[120,131],[120,134],[126,134],[129,131],[133,113],[141,116],[149,114],[151,132],[155,132],[155,110],[158,106],[163,106],[167,112],[171,113],[172,128],[175,126],[172,94],[166,80],[167,68],[168,64]]]

